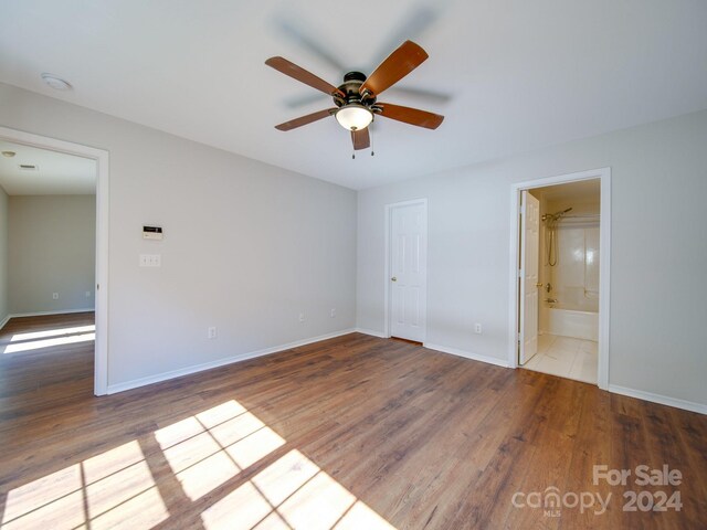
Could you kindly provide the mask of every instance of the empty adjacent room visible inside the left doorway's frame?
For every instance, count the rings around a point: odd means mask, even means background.
[[[93,380],[96,168],[89,159],[0,141],[7,204],[0,330],[3,395],[38,405],[52,389]]]

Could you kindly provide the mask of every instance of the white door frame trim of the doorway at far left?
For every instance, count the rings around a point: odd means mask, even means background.
[[[0,127],[0,139],[38,147],[40,149],[75,155],[96,161],[96,340],[94,348],[94,394],[104,395],[108,391],[108,151],[8,127]]]

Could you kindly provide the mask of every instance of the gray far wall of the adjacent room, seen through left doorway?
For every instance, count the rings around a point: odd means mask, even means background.
[[[10,312],[93,309],[95,195],[13,195],[9,202]]]

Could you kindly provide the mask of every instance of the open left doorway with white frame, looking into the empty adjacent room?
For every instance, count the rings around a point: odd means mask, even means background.
[[[68,378],[76,391],[105,394],[107,152],[7,128],[0,147],[8,389],[46,393]]]

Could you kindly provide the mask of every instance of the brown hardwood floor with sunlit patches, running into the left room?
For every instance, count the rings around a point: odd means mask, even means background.
[[[0,351],[92,318],[11,321]],[[585,383],[358,333],[103,398],[93,342],[0,358],[3,530],[707,528],[707,416]],[[627,490],[682,510],[624,512]]]

